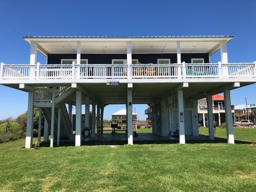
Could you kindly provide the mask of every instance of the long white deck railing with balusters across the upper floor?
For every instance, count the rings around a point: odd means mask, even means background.
[[[129,78],[248,78],[256,77],[254,63],[182,64],[54,64],[5,65],[0,79],[129,79]]]

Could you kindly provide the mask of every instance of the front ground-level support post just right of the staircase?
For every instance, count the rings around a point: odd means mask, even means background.
[[[75,146],[81,146],[82,134],[82,91],[76,91],[76,137]]]

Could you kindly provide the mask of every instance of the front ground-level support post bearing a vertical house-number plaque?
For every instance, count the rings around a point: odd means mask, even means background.
[[[180,144],[185,144],[185,124],[184,124],[184,103],[183,90],[177,91],[178,95],[178,127]]]

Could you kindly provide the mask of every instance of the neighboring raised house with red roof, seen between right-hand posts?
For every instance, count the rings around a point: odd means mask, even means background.
[[[198,122],[206,127],[206,122],[208,121],[208,108],[206,98],[198,100]],[[232,115],[234,114],[234,108],[232,106]],[[216,121],[218,125],[225,123],[225,104],[224,97],[220,94],[212,95],[212,113],[213,121]],[[233,115],[234,117],[234,115]]]

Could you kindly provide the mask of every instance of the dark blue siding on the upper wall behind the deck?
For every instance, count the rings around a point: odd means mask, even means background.
[[[181,60],[191,63],[191,58],[204,58],[209,63],[208,53],[182,53]],[[76,54],[48,54],[48,64],[60,64],[61,59],[76,59]],[[126,59],[126,54],[81,54],[81,59],[88,59],[88,63],[112,63],[112,59]],[[157,63],[157,59],[171,59],[171,63],[177,63],[177,54],[132,54],[132,59],[138,59],[141,63]]]

